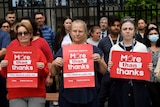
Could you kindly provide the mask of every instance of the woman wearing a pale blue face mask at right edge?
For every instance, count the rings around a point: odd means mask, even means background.
[[[156,68],[158,58],[160,57],[160,34],[158,26],[148,24],[144,44],[147,46],[148,52],[152,53],[153,69],[151,71],[150,82],[148,82],[150,97],[152,100],[152,107],[159,107],[160,102],[160,83],[154,76],[154,69]]]

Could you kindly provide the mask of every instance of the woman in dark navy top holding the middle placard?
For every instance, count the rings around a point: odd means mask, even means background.
[[[87,25],[82,20],[75,20],[72,22],[70,35],[72,43],[70,45],[86,44],[87,39]],[[106,63],[102,58],[102,52],[95,46],[93,47],[94,73],[95,73],[95,87],[82,88],[64,88],[64,77],[61,76],[60,91],[59,91],[59,107],[98,107],[98,90],[99,83],[97,80],[97,72],[106,72]],[[63,72],[65,62],[63,62],[62,48],[57,52],[56,59],[52,62],[52,72],[56,74],[57,71]]]

